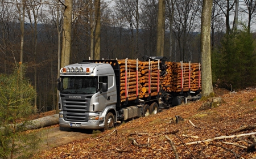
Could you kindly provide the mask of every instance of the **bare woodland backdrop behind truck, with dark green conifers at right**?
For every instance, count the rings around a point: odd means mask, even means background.
[[[66,1],[68,2],[68,1]],[[159,2],[152,0],[72,1],[70,63],[82,59],[142,59],[156,56]],[[100,2],[100,16],[97,5]],[[200,26],[203,1],[161,0],[163,55],[168,61],[201,62]],[[56,108],[65,1],[1,1],[0,74],[19,64],[36,90],[39,111]],[[212,75],[215,87],[255,87],[256,2],[213,1]],[[96,55],[100,17],[100,54]],[[98,58],[97,57],[97,58]],[[23,70],[23,69],[22,69]],[[3,77],[3,76],[0,76]]]

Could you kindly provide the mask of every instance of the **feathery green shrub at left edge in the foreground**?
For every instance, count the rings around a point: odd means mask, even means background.
[[[35,134],[23,133],[26,118],[36,110],[32,104],[36,91],[26,78],[20,78],[25,71],[20,68],[10,75],[0,74],[0,158],[27,155],[23,150],[38,143]]]

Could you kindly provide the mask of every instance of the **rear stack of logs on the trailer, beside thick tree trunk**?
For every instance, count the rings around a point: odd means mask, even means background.
[[[183,63],[183,91],[201,90],[201,80],[199,88],[199,63],[191,63],[190,65],[190,79],[189,79],[189,63]],[[161,77],[161,84],[163,91],[167,92],[181,92],[181,63],[180,62],[166,62],[166,75]]]

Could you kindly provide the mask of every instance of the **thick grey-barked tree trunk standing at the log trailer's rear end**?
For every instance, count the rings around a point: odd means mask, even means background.
[[[201,20],[201,54],[202,54],[202,93],[209,96],[213,92],[212,68],[210,61],[210,19],[212,14],[212,0],[203,1]]]

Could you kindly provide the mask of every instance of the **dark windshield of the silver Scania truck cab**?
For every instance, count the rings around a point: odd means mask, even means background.
[[[97,77],[62,76],[60,81],[60,93],[94,94],[97,91],[97,83]]]

